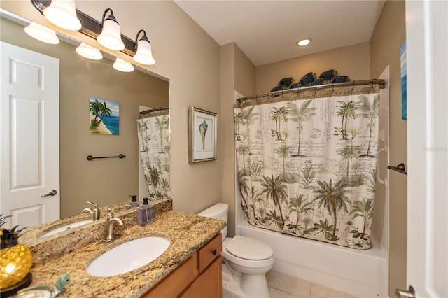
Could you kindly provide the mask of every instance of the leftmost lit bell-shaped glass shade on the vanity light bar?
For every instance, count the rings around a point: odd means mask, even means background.
[[[43,15],[49,22],[62,29],[78,31],[82,27],[76,16],[74,0],[52,0],[50,6],[43,10]]]

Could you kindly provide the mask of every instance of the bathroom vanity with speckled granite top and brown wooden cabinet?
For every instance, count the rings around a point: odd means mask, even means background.
[[[123,236],[104,246],[97,246],[101,240],[97,235],[104,236],[104,220],[31,244],[31,285],[54,285],[61,274],[67,273],[71,279],[58,297],[221,297],[221,229],[225,222],[164,211],[156,213],[153,223],[141,227],[135,211],[116,216],[125,223],[116,231]],[[99,255],[147,236],[170,241],[167,250],[149,264],[116,276],[87,273],[87,266]],[[63,246],[64,238],[69,246],[52,247]]]

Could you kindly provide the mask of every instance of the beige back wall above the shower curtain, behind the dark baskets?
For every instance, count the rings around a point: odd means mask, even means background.
[[[366,80],[370,76],[369,43],[358,43],[257,66],[256,93],[269,92],[282,78],[292,77],[298,82],[310,71],[320,76],[328,69],[335,69],[339,75],[349,76],[351,80]]]

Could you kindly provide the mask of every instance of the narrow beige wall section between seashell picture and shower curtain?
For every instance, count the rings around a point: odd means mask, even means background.
[[[222,201],[229,205],[228,235],[235,236],[235,90],[255,93],[255,66],[235,43],[221,47]]]

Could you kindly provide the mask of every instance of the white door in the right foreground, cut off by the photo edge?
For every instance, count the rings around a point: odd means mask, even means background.
[[[448,1],[406,1],[407,285],[417,297],[448,297],[447,20]]]

